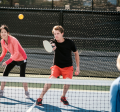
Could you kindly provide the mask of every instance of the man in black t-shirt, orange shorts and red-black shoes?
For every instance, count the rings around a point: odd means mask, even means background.
[[[54,39],[52,40],[52,46],[54,50],[54,62],[51,67],[51,75],[50,79],[57,78],[60,75],[63,76],[63,79],[72,79],[73,77],[73,63],[72,63],[72,52],[75,54],[76,61],[76,75],[79,74],[79,53],[74,42],[70,39],[64,38],[64,29],[62,26],[54,26],[52,33],[54,35]],[[64,105],[69,105],[66,100],[66,93],[69,89],[70,85],[65,84],[63,87],[63,94],[61,96],[61,102]],[[51,84],[45,84],[40,94],[40,97],[36,101],[36,105],[42,105],[42,99],[48,89],[51,87]]]

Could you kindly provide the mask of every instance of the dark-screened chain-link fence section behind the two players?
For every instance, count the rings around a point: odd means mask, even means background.
[[[23,20],[18,19],[19,14]],[[26,73],[50,74],[54,52],[47,53],[43,40],[54,38],[52,28],[62,25],[79,51],[79,76],[118,77],[116,58],[120,49],[120,13],[95,11],[0,8],[0,24],[8,25],[28,56]],[[7,53],[5,59],[10,54]],[[73,55],[73,65],[75,60]],[[3,68],[0,67],[0,72]],[[19,67],[12,72],[19,73]]]

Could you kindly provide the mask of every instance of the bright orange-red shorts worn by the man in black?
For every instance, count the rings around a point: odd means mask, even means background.
[[[51,67],[51,75],[50,75],[49,78],[51,78],[52,76],[57,78],[61,75],[63,76],[63,79],[66,79],[66,78],[72,79],[72,77],[73,77],[73,66],[60,68],[60,67],[54,65],[54,66]]]

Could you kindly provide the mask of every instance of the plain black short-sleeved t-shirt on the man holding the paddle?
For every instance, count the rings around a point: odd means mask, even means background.
[[[55,50],[53,64],[59,66],[60,68],[72,66],[72,51],[77,51],[77,48],[72,40],[67,38],[64,39],[65,41],[62,43],[54,41],[57,48]]]

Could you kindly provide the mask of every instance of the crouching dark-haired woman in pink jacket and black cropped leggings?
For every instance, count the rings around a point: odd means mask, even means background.
[[[20,66],[20,77],[25,77],[25,70],[27,64],[27,55],[20,45],[19,41],[9,34],[9,28],[6,25],[0,27],[1,47],[2,53],[0,56],[0,62],[5,57],[7,51],[11,53],[11,57],[2,63],[2,66],[6,66],[3,72],[3,76],[8,76],[10,71],[15,65]],[[3,96],[3,90],[6,82],[1,82],[0,97]],[[25,90],[25,98],[29,98],[28,85],[23,83]]]

